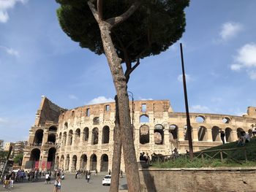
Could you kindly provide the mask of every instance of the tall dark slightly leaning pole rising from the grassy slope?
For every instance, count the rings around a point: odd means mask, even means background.
[[[182,50],[181,43],[180,43],[180,48],[181,48],[181,66],[182,66],[182,74],[183,74],[184,99],[185,99],[186,115],[187,115],[187,134],[188,134],[188,139],[189,139],[189,155],[190,155],[190,158],[193,158],[193,145],[192,145],[190,118],[189,118],[189,105],[188,105],[188,101],[187,101],[187,85],[186,85],[184,58],[183,58],[183,50]]]

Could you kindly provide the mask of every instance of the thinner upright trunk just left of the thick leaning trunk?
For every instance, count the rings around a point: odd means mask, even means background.
[[[121,164],[121,128],[119,122],[119,109],[118,109],[118,98],[115,96],[116,101],[116,120],[114,128],[114,150],[112,158],[112,175],[110,192],[118,192],[119,185],[119,172]]]

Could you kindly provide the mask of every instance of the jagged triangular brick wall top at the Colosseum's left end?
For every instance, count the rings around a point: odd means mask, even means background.
[[[35,126],[44,126],[46,121],[53,123],[59,122],[59,115],[66,111],[65,109],[53,104],[47,97],[42,96],[42,100],[37,110]]]

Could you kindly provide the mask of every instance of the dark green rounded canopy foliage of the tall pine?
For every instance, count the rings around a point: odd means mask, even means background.
[[[63,31],[80,47],[100,55],[104,53],[99,26],[88,0],[56,0]],[[134,1],[108,0],[103,2],[103,18],[113,18],[124,13]],[[184,9],[189,0],[143,0],[142,4],[123,23],[112,29],[111,37],[118,56],[129,61],[167,50],[184,33],[186,25]],[[127,59],[126,58],[126,59]]]

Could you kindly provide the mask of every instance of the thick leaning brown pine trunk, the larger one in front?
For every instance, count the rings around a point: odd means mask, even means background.
[[[132,139],[132,125],[129,116],[129,98],[127,94],[127,82],[121,66],[121,59],[116,54],[110,37],[110,24],[104,21],[99,23],[102,37],[102,44],[105,55],[108,58],[108,65],[113,77],[118,97],[119,120],[121,124],[121,140],[124,151],[124,163],[127,173],[128,191],[140,192],[140,177],[135,154],[135,146]]]

